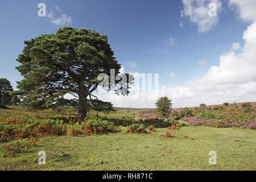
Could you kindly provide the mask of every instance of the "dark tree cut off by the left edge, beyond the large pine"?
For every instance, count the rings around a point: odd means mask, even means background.
[[[13,86],[6,78],[0,78],[0,105],[11,105]]]

